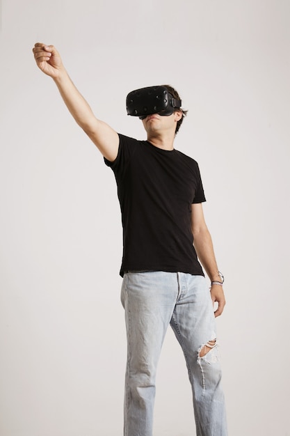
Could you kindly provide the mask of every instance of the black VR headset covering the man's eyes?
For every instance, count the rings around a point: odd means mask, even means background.
[[[182,100],[174,98],[166,86],[136,89],[131,91],[126,99],[127,114],[138,116],[140,120],[152,114],[169,116],[181,106]]]

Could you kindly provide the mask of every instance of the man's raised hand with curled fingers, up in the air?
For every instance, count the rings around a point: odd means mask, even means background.
[[[53,45],[37,42],[33,47],[34,59],[38,68],[46,75],[55,79],[64,70],[61,56]]]

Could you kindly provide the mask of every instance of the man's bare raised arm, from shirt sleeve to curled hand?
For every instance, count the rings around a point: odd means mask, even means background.
[[[98,120],[92,113],[88,102],[79,93],[67,74],[56,48],[53,45],[38,42],[33,47],[33,53],[40,70],[54,79],[63,101],[76,123],[95,143],[102,155],[113,162],[118,155],[118,133],[104,121]]]

